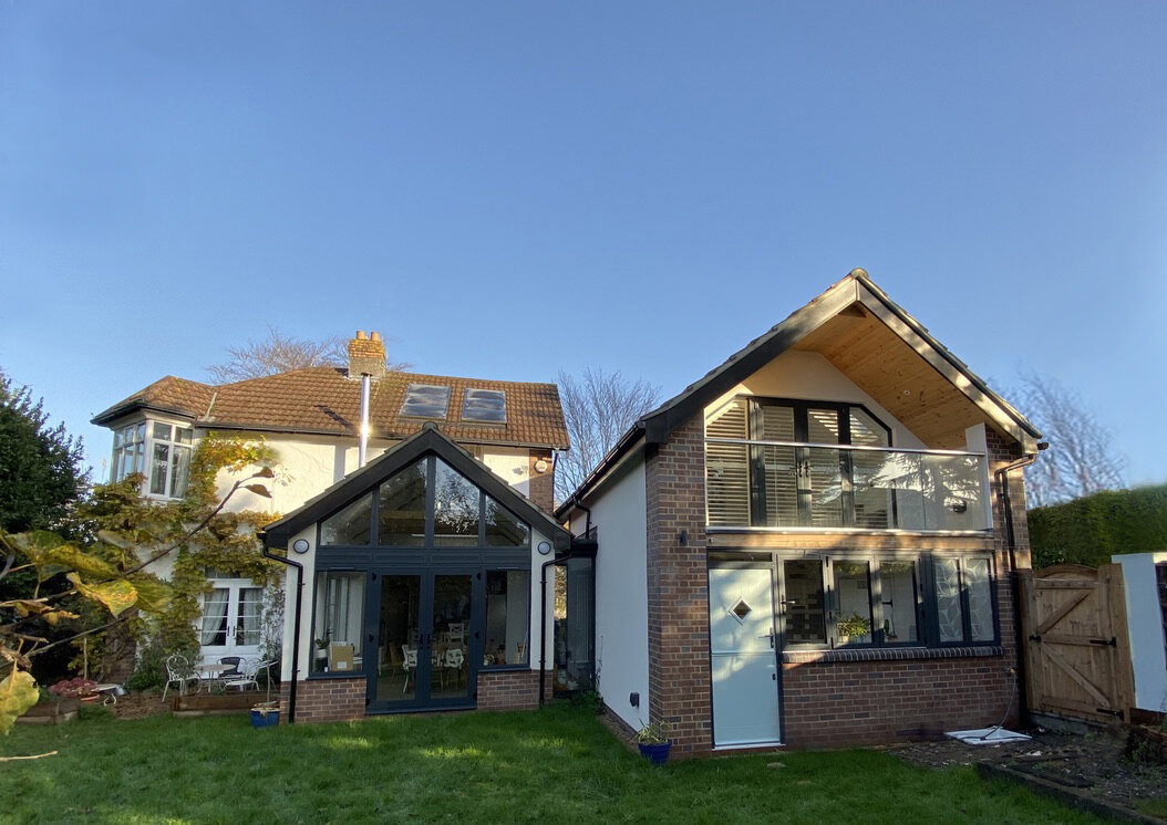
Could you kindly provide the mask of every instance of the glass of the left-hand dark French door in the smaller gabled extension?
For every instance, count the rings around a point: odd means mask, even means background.
[[[424,637],[418,628],[421,615],[421,577],[380,576],[379,595],[379,642],[376,672],[372,675],[372,698],[378,704],[412,703],[418,699],[418,685],[429,678],[429,667],[424,656]]]

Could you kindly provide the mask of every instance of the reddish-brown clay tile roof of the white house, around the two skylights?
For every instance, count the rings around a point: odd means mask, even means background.
[[[568,446],[559,389],[553,383],[398,372],[372,382],[369,423],[373,438],[405,438],[428,421],[399,415],[411,383],[450,388],[447,417],[435,422],[448,438],[462,443]],[[461,421],[462,395],[469,388],[504,392],[506,423]],[[349,379],[341,367],[306,367],[218,386],[167,376],[100,412],[93,423],[106,424],[139,408],[186,415],[207,428],[355,437],[361,381]]]

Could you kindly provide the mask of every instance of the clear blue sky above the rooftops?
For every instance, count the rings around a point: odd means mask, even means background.
[[[0,0],[0,368],[83,435],[266,325],[666,395],[853,267],[1167,406],[1167,3]]]

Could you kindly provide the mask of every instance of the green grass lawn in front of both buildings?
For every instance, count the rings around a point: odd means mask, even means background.
[[[18,726],[0,755],[12,823],[1092,823],[971,768],[886,753],[652,768],[588,713],[382,717],[256,731],[245,717]],[[781,769],[768,763],[782,762]]]

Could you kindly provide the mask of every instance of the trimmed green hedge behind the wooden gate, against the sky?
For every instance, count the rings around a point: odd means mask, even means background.
[[[1107,564],[1113,553],[1167,550],[1167,484],[1112,489],[1029,510],[1033,566]]]

